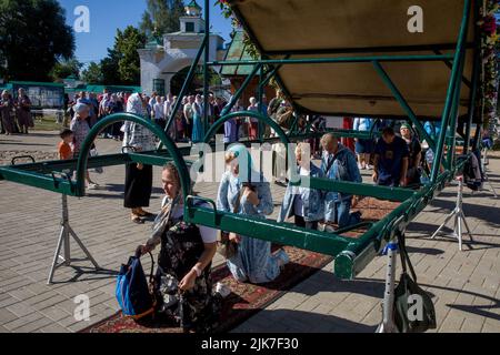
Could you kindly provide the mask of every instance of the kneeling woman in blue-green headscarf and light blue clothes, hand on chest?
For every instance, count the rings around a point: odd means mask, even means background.
[[[252,169],[247,148],[241,144],[233,145],[226,154],[226,163],[228,171],[222,175],[219,186],[218,210],[261,219],[270,215],[274,205],[269,182]],[[234,233],[231,233],[229,239],[238,244],[238,252],[228,260],[228,267],[239,282],[271,282],[289,262],[283,250],[276,255],[271,254],[270,242]]]

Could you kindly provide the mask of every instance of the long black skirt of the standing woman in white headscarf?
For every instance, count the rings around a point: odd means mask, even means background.
[[[149,200],[152,191],[152,166],[144,165],[142,170],[137,169],[137,164],[127,164],[124,207],[139,209],[149,207]]]

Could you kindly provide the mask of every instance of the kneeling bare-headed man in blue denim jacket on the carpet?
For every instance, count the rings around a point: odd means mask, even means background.
[[[321,139],[323,156],[321,171],[327,179],[361,183],[362,178],[354,154],[339,143],[333,134]],[[324,222],[337,223],[339,229],[360,222],[361,213],[350,213],[352,195],[340,192],[328,192],[324,196]]]

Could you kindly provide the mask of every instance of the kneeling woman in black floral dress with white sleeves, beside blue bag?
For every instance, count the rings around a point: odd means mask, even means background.
[[[181,184],[173,164],[163,169],[161,178],[167,196],[151,239],[141,246],[146,254],[161,244],[154,282],[159,310],[180,322],[184,332],[210,332],[218,308],[211,278],[217,231],[183,222]]]

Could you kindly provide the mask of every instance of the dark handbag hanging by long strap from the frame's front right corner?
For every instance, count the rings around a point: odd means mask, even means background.
[[[402,264],[401,280],[394,291],[394,323],[400,333],[423,333],[437,328],[432,298],[417,283],[417,274],[407,252],[404,236],[399,235]],[[410,270],[411,276],[407,270]]]

